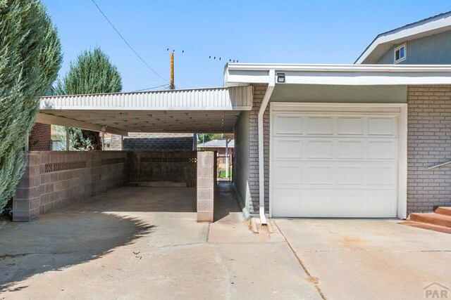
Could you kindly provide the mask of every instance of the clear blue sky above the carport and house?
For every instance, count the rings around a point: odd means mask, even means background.
[[[451,11],[449,0],[95,1],[135,51],[167,80],[166,49],[175,50],[178,88],[222,86],[229,59],[354,63],[377,34]],[[60,74],[80,52],[100,46],[121,72],[123,91],[166,84],[130,51],[92,0],[42,2],[61,38]]]

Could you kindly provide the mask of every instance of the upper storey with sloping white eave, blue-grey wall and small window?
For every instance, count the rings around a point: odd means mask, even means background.
[[[450,65],[451,12],[379,34],[355,63]]]

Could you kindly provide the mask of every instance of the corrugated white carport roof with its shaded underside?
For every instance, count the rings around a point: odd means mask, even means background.
[[[252,109],[252,86],[135,93],[46,96],[37,122],[105,131],[233,132],[242,110]]]

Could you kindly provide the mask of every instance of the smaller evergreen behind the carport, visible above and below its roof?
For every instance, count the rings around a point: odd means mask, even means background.
[[[70,63],[69,71],[55,86],[57,95],[117,93],[121,90],[121,74],[100,48],[81,53],[75,63]],[[99,133],[71,128],[70,148],[101,150]]]

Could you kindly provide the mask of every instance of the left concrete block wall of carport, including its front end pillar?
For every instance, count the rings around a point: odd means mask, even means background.
[[[127,153],[119,151],[37,151],[13,197],[14,221],[41,214],[125,185]]]

